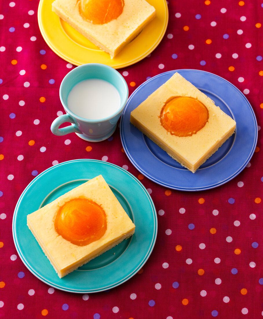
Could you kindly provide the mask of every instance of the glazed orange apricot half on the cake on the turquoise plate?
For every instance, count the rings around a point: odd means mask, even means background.
[[[87,198],[75,198],[60,207],[55,217],[55,230],[78,246],[99,240],[106,232],[104,209]]]

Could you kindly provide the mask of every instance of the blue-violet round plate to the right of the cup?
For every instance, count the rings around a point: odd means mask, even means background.
[[[159,86],[179,72],[208,95],[237,123],[236,132],[194,174],[173,160],[130,123],[130,113]],[[173,70],[140,85],[129,97],[121,116],[121,142],[132,164],[150,180],[171,189],[199,191],[218,187],[237,176],[257,144],[257,120],[251,105],[229,81],[201,70]]]

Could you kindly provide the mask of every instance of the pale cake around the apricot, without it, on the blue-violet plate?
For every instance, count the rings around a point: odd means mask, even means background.
[[[178,97],[197,100],[208,111],[207,122],[191,136],[174,135],[161,123],[164,106],[172,98]],[[236,128],[236,122],[229,115],[178,72],[131,112],[130,122],[193,173],[218,150]]]

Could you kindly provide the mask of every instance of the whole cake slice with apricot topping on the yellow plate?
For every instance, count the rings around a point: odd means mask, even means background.
[[[111,58],[156,15],[145,0],[55,0],[52,11]]]

